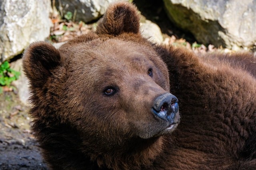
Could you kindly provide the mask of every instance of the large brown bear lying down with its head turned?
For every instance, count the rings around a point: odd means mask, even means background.
[[[24,52],[49,168],[256,169],[253,54],[152,43],[139,21],[136,6],[116,2],[95,33]]]

